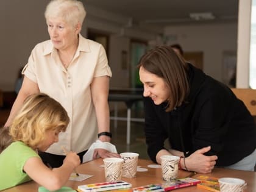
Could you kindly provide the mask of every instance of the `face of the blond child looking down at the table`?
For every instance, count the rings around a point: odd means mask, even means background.
[[[38,144],[37,149],[39,151],[46,151],[52,144],[59,141],[59,130],[47,130],[45,133],[45,138]]]

